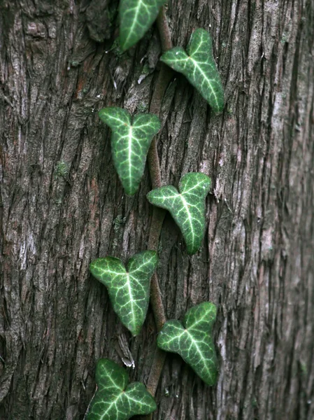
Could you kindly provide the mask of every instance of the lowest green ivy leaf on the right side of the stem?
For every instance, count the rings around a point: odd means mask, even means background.
[[[160,349],[178,353],[208,385],[215,384],[217,356],[211,337],[216,318],[215,304],[204,302],[192,307],[180,321],[167,321],[157,337]]]

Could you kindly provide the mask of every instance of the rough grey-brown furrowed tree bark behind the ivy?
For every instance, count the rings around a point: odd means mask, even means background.
[[[152,314],[131,339],[88,271],[145,249],[152,214],[148,171],[126,197],[97,116],[147,109],[159,68],[155,29],[120,55],[115,3],[0,0],[0,419],[83,419],[97,359],[122,350],[148,378]],[[201,171],[213,192],[196,255],[166,216],[157,272],[168,318],[217,304],[220,377],[167,356],[155,419],[314,419],[313,10],[169,1],[174,45],[210,30],[227,104],[214,116],[178,74],[166,92],[162,182]]]

